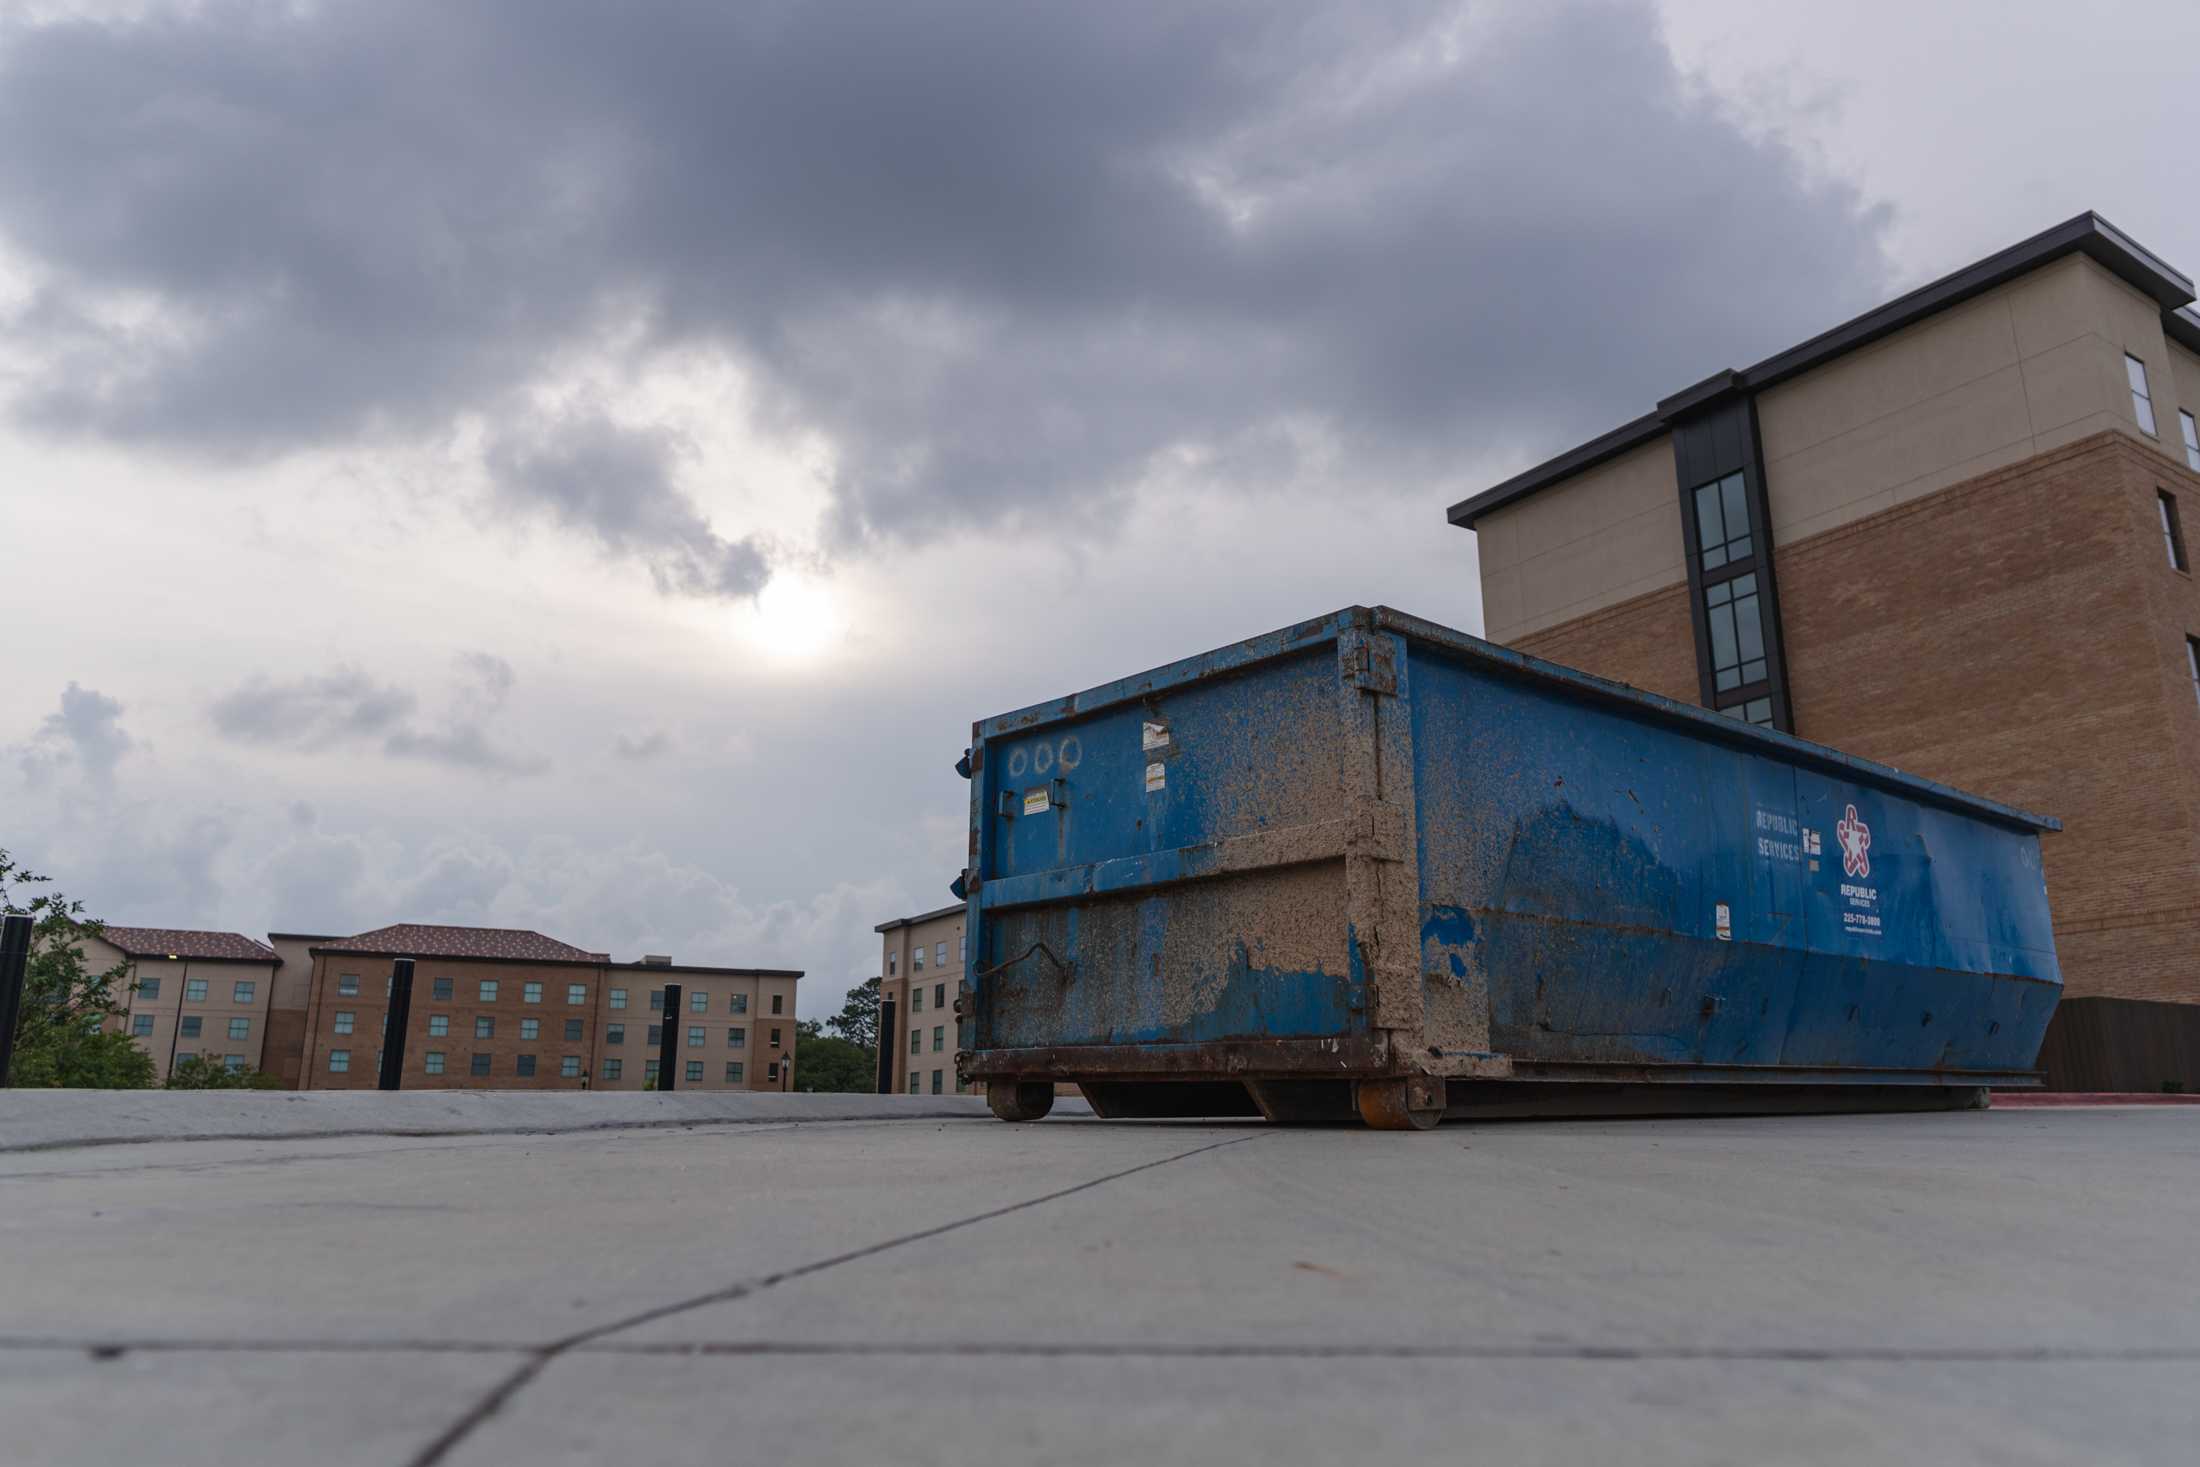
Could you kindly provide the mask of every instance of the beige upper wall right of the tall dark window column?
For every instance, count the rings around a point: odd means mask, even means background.
[[[1773,541],[1918,499],[2103,429],[2147,440],[2123,354],[2147,363],[2156,446],[2178,383],[2160,308],[2068,255],[1758,396]],[[2182,453],[2178,451],[2182,457]]]

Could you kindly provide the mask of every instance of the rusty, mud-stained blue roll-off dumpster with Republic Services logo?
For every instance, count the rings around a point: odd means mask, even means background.
[[[957,1065],[1032,1119],[1984,1104],[2050,818],[1351,607],[983,719]]]

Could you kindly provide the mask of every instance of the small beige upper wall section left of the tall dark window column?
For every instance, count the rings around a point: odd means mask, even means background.
[[[1687,578],[1672,438],[1621,453],[1476,526],[1483,636],[1511,642]]]

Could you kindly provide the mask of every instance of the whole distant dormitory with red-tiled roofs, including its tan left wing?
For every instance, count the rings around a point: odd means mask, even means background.
[[[125,963],[119,1021],[158,1073],[191,1054],[260,1069],[288,1089],[374,1089],[389,974],[414,959],[405,1089],[612,1089],[658,1078],[675,1025],[673,1084],[794,1089],[794,985],[785,968],[614,963],[541,933],[398,924],[354,937],[110,926],[95,968]],[[664,1014],[664,985],[680,1007]]]

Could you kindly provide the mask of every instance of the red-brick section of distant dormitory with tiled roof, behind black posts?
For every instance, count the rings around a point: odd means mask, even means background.
[[[297,1089],[376,1087],[400,957],[414,959],[405,1089],[645,1089],[667,983],[682,985],[678,1089],[794,1084],[796,970],[614,963],[519,928],[396,924],[295,941],[310,955]]]

